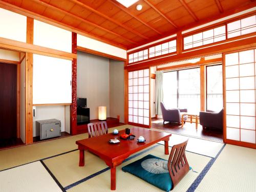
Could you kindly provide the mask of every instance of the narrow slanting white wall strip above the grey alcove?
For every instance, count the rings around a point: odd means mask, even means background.
[[[126,50],[77,34],[77,46],[126,59]]]

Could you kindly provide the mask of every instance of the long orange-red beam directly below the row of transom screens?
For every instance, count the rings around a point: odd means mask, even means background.
[[[198,50],[189,51],[189,52],[185,52],[177,55],[163,57],[156,60],[141,62],[137,65],[126,66],[125,69],[129,71],[140,70],[140,69],[145,69],[152,66],[162,65],[169,62],[187,60],[195,57],[215,55],[223,52],[239,50],[239,49],[244,49],[244,48],[254,47],[254,46],[256,46],[256,37],[248,37],[246,39],[227,42],[226,44],[220,44],[212,47],[207,47],[204,49],[198,49]]]

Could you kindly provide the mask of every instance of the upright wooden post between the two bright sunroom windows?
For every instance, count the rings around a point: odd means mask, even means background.
[[[206,101],[206,75],[205,66],[200,66],[200,110],[205,111],[205,101]]]

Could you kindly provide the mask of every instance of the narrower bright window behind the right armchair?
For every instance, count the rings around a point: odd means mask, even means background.
[[[206,110],[220,111],[223,108],[222,65],[206,67]]]

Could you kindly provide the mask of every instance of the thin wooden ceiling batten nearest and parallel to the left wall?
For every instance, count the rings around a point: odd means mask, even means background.
[[[56,10],[56,11],[62,12],[62,13],[64,13],[64,14],[66,14],[66,15],[69,15],[69,16],[71,16],[71,17],[73,17],[73,18],[76,18],[76,19],[80,20],[81,22],[87,23],[87,24],[89,24],[89,25],[91,25],[91,26],[93,26],[93,27],[95,27],[95,28],[101,29],[101,30],[103,30],[103,31],[105,31],[105,32],[108,32],[108,33],[111,33],[111,34],[116,35],[116,36],[118,36],[118,37],[121,37],[121,38],[124,39],[124,40],[127,40],[127,41],[129,41],[129,42],[132,42],[133,44],[137,44],[136,41],[133,41],[133,40],[131,40],[131,39],[129,39],[129,38],[126,38],[126,37],[124,37],[124,36],[118,34],[118,33],[115,33],[115,32],[113,32],[113,31],[111,31],[111,30],[108,30],[108,29],[106,29],[106,28],[103,28],[103,27],[101,27],[101,26],[98,26],[98,25],[96,25],[96,24],[94,24],[94,23],[92,23],[92,22],[89,22],[89,20],[86,20],[86,19],[84,19],[84,18],[81,18],[81,17],[79,17],[79,16],[77,16],[77,15],[74,15],[74,14],[72,14],[72,13],[70,13],[70,12],[67,12],[67,11],[65,11],[65,10],[63,10],[63,9],[60,9],[60,8],[57,8],[57,7],[55,7],[55,6],[53,6],[53,5],[50,5],[50,4],[48,4],[48,3],[42,2],[41,0],[32,0],[32,1],[34,1],[34,2],[36,2],[36,3],[38,3],[38,4],[41,4],[41,5],[43,5],[43,6],[46,6],[47,8],[54,9],[54,10]]]

